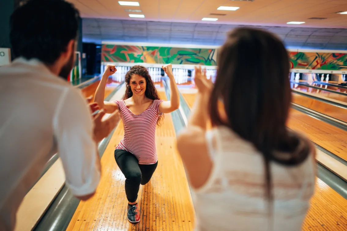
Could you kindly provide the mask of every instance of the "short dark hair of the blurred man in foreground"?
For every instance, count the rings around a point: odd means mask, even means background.
[[[29,0],[10,18],[10,41],[15,57],[53,64],[77,38],[79,12],[64,0]]]

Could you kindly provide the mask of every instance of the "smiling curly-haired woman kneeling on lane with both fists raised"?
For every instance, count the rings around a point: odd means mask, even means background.
[[[159,125],[163,113],[178,109],[179,92],[171,64],[162,66],[170,79],[170,101],[159,98],[148,70],[144,66],[136,65],[125,75],[124,99],[104,102],[106,81],[117,71],[114,65],[107,65],[107,67],[96,89],[94,101],[106,113],[113,113],[118,109],[124,124],[124,137],[116,147],[115,159],[126,178],[128,220],[131,223],[137,223],[140,221],[137,205],[140,184],[147,184],[158,166],[155,145],[156,125]]]

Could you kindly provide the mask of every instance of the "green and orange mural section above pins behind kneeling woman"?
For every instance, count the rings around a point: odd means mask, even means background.
[[[216,49],[102,45],[102,62],[217,65]]]

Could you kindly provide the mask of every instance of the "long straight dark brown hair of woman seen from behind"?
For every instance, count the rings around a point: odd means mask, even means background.
[[[286,127],[291,103],[287,50],[269,32],[238,28],[228,34],[218,55],[209,105],[212,125],[228,126],[262,153],[265,192],[271,202],[269,162],[295,166],[308,156],[307,150],[295,152],[299,139]],[[223,101],[228,121],[218,112],[219,100]],[[275,151],[290,156],[281,157]]]

